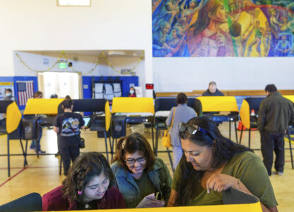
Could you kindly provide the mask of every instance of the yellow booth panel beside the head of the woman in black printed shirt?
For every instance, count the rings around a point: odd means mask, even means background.
[[[23,114],[57,114],[64,99],[28,99]]]

